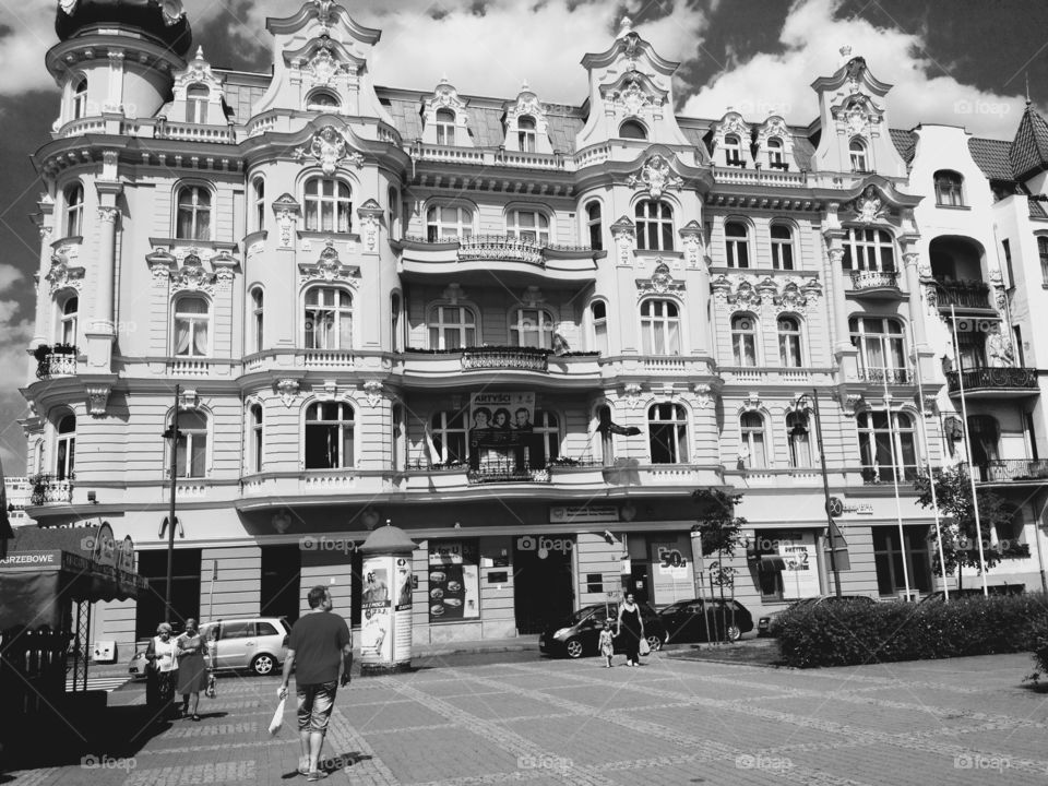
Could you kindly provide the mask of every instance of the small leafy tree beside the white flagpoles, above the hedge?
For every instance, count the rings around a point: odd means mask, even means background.
[[[939,501],[939,512],[944,519],[950,519],[949,526],[942,529],[942,553],[945,565],[939,559],[939,539],[936,528],[931,527],[928,539],[933,544],[932,569],[939,575],[952,575],[957,571],[957,588],[961,588],[962,568],[974,568],[976,574],[981,574],[982,563],[979,561],[979,539],[975,528],[975,508],[972,505],[972,481],[963,466],[948,467],[934,473],[936,497]],[[921,476],[914,485],[920,495],[917,504],[931,508],[931,479]],[[1001,551],[993,548],[991,533],[999,524],[1008,524],[1012,511],[1003,499],[986,489],[976,490],[979,502],[979,524],[982,529],[982,562],[992,568],[1001,561]]]

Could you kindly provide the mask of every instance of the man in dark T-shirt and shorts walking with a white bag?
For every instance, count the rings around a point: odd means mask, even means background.
[[[325,586],[309,591],[309,614],[291,628],[284,660],[284,681],[277,690],[287,696],[287,683],[295,669],[298,695],[298,735],[302,743],[298,772],[310,781],[327,777],[320,770],[320,749],[327,733],[327,720],[335,705],[338,686],[349,682],[353,666],[353,634],[346,621],[331,614],[331,593]]]

